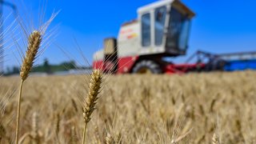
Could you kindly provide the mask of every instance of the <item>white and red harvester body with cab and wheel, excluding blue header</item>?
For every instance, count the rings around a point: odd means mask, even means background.
[[[166,72],[164,57],[186,54],[194,13],[178,0],[142,6],[136,20],[124,23],[118,38],[106,38],[94,54],[94,68],[117,73]]]

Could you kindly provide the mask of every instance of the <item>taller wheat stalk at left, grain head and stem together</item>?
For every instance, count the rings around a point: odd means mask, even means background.
[[[17,119],[16,119],[16,136],[15,136],[15,143],[18,144],[18,131],[19,131],[19,118],[20,118],[20,110],[21,110],[21,98],[22,98],[22,86],[23,82],[29,76],[30,71],[32,69],[34,59],[38,54],[39,46],[42,42],[42,34],[34,30],[28,39],[28,46],[26,50],[26,56],[23,59],[22,67],[20,76],[22,78],[20,87],[19,87],[19,94],[18,94],[18,109],[17,109]]]

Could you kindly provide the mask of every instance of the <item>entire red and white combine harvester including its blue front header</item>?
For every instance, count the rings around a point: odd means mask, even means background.
[[[235,55],[246,57],[247,53],[210,54],[198,51],[184,64],[167,62],[166,58],[186,55],[192,18],[194,12],[178,0],[142,6],[138,8],[138,19],[121,26],[118,39],[104,40],[104,49],[94,54],[93,67],[112,74],[243,70],[247,64],[250,65],[247,68],[256,69],[255,53],[254,60],[241,61],[226,58]],[[189,63],[193,58],[197,61]]]

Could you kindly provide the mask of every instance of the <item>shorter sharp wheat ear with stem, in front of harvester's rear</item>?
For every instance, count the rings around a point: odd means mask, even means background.
[[[90,122],[90,116],[95,110],[96,101],[98,99],[99,90],[101,89],[102,85],[102,70],[93,70],[92,74],[90,75],[90,90],[86,97],[86,101],[83,107],[83,118],[85,121],[84,130],[83,130],[83,138],[82,144],[86,142],[86,126],[87,123]]]

